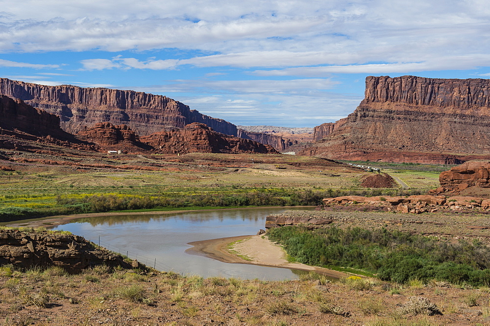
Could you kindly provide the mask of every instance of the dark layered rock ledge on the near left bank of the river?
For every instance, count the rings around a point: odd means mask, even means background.
[[[0,231],[0,265],[20,268],[60,266],[69,273],[105,264],[131,268],[123,257],[105,248],[96,248],[83,237],[44,232]]]

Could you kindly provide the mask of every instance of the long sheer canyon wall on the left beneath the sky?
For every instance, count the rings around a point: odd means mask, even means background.
[[[162,95],[70,85],[45,86],[6,78],[0,78],[0,94],[56,114],[61,119],[61,128],[73,134],[98,122],[125,124],[141,135],[160,131],[166,126],[182,128],[198,122],[219,132],[237,135],[235,125],[203,115]]]

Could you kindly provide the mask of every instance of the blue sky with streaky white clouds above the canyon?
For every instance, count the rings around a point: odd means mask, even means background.
[[[161,94],[236,125],[334,122],[371,75],[490,76],[486,0],[0,4],[0,77]]]

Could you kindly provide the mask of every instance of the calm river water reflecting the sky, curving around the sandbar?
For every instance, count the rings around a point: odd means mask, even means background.
[[[80,218],[55,229],[70,231],[96,243],[100,239],[101,245],[111,250],[139,255],[138,260],[150,266],[153,259],[156,259],[168,267],[162,269],[172,269],[179,273],[203,277],[285,280],[297,278],[297,272],[285,268],[224,263],[207,257],[188,255],[185,250],[191,247],[187,243],[192,241],[254,235],[259,229],[264,229],[267,215],[280,214],[289,209],[291,208],[246,208],[113,215]],[[144,257],[146,261],[142,259]]]

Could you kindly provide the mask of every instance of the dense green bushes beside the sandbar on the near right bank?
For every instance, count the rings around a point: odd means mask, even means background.
[[[315,266],[364,270],[383,281],[431,280],[490,284],[490,247],[475,240],[446,239],[359,227],[308,230],[285,226],[268,231],[295,261]]]

